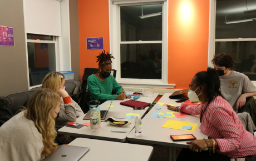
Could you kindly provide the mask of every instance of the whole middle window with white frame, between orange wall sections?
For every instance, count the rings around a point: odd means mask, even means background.
[[[167,84],[166,6],[165,2],[112,4],[110,52],[116,58],[112,68],[117,69],[119,83]]]

